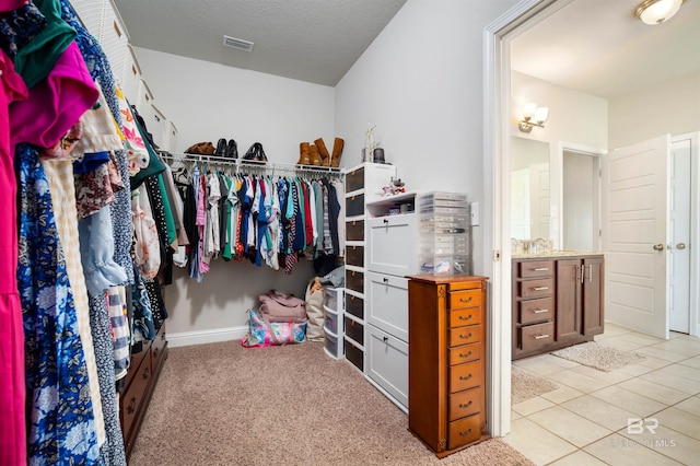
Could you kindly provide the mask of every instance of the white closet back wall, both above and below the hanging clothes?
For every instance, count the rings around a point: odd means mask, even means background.
[[[179,130],[174,151],[233,138],[241,155],[259,141],[271,162],[295,163],[300,142],[323,137],[332,143],[332,88],[143,48],[137,55],[155,104]],[[203,283],[176,269],[174,284],[165,288],[168,338],[175,343],[184,333],[205,335],[197,341],[233,338],[232,328],[246,325],[246,310],[257,305],[258,294],[276,288],[304,296],[312,276],[306,261],[287,276],[247,260],[214,260]]]

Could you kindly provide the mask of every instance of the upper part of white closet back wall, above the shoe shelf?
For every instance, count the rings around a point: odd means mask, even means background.
[[[235,139],[243,155],[261,142],[270,162],[295,163],[299,143],[332,147],[334,89],[136,48],[155,105],[175,123],[182,152],[195,142]]]

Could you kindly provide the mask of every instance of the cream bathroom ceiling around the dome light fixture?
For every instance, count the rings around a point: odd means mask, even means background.
[[[633,15],[640,2],[565,4],[512,42],[512,69],[607,100],[700,70],[700,1],[654,26]]]

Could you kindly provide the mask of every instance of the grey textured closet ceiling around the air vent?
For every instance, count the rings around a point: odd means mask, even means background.
[[[129,42],[334,86],[406,0],[114,0]],[[223,36],[255,43],[253,51]]]

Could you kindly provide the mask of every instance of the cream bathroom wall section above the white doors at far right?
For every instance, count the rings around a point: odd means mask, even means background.
[[[700,128],[700,71],[609,102],[609,148]]]

